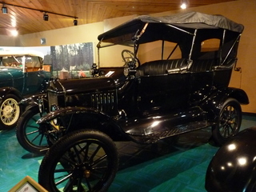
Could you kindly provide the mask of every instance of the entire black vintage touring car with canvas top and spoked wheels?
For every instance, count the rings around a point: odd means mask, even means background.
[[[191,12],[139,16],[100,34],[98,52],[115,47],[123,63],[99,60],[93,78],[51,81],[18,123],[26,150],[54,143],[38,182],[50,191],[105,191],[118,170],[114,142],[149,144],[211,126],[222,145],[237,134],[249,99],[228,85],[242,30],[221,15]]]

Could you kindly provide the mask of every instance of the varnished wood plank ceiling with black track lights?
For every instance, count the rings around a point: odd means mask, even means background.
[[[230,1],[232,0],[186,0],[189,7]],[[182,0],[0,0],[0,6],[4,5],[8,9],[8,14],[0,12],[0,34],[10,35],[10,30],[15,29],[18,34],[31,34],[74,26],[74,18],[77,18],[78,25],[82,25],[102,22],[106,18],[178,10],[181,2]],[[48,12],[48,21],[42,18],[44,11]]]

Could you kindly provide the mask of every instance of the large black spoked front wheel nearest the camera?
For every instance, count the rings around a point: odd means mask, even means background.
[[[98,130],[76,130],[60,138],[42,159],[38,182],[51,192],[106,191],[118,171],[118,150]]]

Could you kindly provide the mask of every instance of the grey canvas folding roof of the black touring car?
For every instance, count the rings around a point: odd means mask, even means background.
[[[233,22],[222,15],[202,14],[198,12],[172,14],[163,17],[142,15],[130,20],[129,22],[125,22],[120,26],[114,27],[112,30],[98,35],[98,40],[102,42],[126,41],[129,38],[134,37],[134,34],[139,35],[142,31],[146,30],[147,26],[159,27],[158,24],[163,24],[162,26],[166,27],[164,30],[167,28],[177,28],[188,31],[195,29],[224,29],[242,34],[244,29],[242,24]],[[152,28],[153,27],[151,27],[151,29]],[[158,30],[158,32],[162,33],[162,30]],[[121,36],[122,38],[120,38]]]

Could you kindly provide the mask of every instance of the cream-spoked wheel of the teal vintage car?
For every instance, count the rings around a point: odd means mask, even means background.
[[[21,114],[20,100],[14,94],[7,94],[0,100],[0,130],[11,130],[17,125]]]

